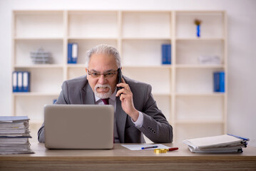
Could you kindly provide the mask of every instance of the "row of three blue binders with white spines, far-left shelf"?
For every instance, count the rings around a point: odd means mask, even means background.
[[[30,92],[30,72],[14,71],[12,73],[13,92]]]

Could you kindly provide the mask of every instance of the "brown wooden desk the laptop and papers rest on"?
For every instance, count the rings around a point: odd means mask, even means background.
[[[35,154],[0,155],[0,170],[256,170],[256,148],[242,154],[194,154],[187,145],[165,144],[179,150],[155,154],[131,151],[115,144],[113,150],[47,150],[31,143]]]

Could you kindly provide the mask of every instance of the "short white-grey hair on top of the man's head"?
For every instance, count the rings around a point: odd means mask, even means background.
[[[100,44],[86,51],[86,68],[88,68],[89,61],[93,54],[106,54],[108,56],[114,56],[116,59],[116,65],[118,66],[118,68],[121,68],[120,54],[115,47],[106,44]]]

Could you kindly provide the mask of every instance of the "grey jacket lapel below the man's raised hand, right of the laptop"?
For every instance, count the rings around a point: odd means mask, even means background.
[[[125,142],[125,128],[126,128],[127,114],[123,111],[121,100],[116,98],[116,127],[118,130],[118,138],[121,143]]]

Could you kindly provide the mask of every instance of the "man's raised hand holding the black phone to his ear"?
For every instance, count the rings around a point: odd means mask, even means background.
[[[121,81],[122,83],[118,83],[116,86],[118,88],[123,88],[116,92],[116,97],[120,96],[123,111],[125,111],[125,113],[127,113],[130,118],[132,118],[135,122],[136,120],[138,120],[139,113],[133,105],[133,93],[130,91],[129,85],[126,83],[126,81],[124,81],[123,78],[121,79]]]

